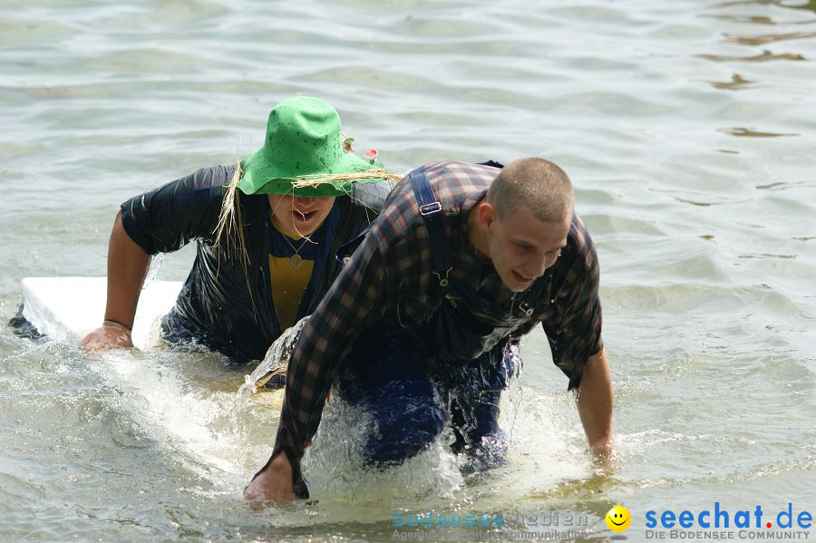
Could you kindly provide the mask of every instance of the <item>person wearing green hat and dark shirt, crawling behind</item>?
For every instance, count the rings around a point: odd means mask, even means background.
[[[195,240],[193,268],[162,319],[170,344],[204,344],[239,362],[320,302],[339,272],[337,247],[378,212],[393,179],[351,152],[335,109],[296,97],[269,113],[263,147],[235,166],[197,170],[121,205],[108,253],[102,326],[93,350],[131,347],[152,255]]]

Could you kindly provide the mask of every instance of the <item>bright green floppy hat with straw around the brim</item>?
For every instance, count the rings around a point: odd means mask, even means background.
[[[340,115],[328,102],[296,96],[269,112],[264,146],[241,160],[244,194],[325,198],[348,194],[352,183],[388,177],[380,162],[344,149]],[[375,151],[370,151],[374,152]]]

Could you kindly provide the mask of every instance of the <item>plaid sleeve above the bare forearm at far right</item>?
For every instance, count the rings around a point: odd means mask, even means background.
[[[559,293],[559,318],[542,323],[552,361],[569,378],[568,390],[578,388],[589,357],[603,347],[597,294],[600,268],[592,240],[586,232],[584,235]]]

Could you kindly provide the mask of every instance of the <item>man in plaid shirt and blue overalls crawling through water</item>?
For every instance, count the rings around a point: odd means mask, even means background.
[[[454,451],[500,461],[510,352],[538,323],[578,392],[591,451],[609,454],[597,255],[573,199],[567,175],[541,159],[439,162],[403,179],[303,329],[275,448],[245,498],[308,495],[300,461],[333,384],[376,419],[371,463],[422,451],[449,418]]]

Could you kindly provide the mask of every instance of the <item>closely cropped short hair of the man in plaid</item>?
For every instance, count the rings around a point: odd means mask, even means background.
[[[575,197],[567,174],[549,160],[529,158],[510,162],[493,179],[486,201],[499,218],[521,206],[544,222],[572,217]]]

